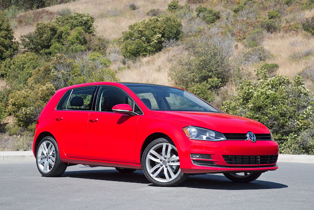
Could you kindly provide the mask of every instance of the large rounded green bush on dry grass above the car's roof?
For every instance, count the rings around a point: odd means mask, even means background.
[[[169,15],[137,22],[123,32],[122,55],[134,59],[154,54],[162,49],[164,41],[177,40],[182,33],[181,21]]]

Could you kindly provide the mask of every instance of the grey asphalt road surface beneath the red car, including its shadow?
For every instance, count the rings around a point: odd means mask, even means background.
[[[142,171],[76,165],[46,178],[35,162],[0,162],[0,209],[314,209],[314,164],[278,165],[251,183],[216,174],[157,187]]]

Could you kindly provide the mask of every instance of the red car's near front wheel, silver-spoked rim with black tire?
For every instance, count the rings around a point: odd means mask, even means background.
[[[164,138],[150,143],[142,155],[145,177],[157,186],[175,186],[187,179],[180,169],[178,150]]]

